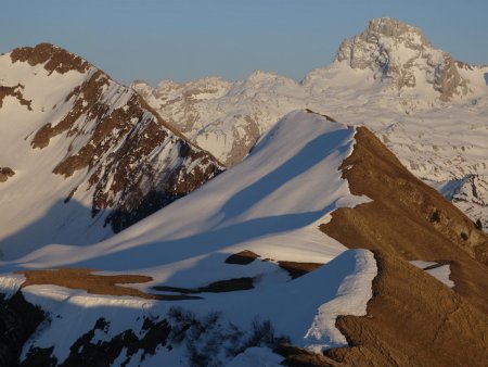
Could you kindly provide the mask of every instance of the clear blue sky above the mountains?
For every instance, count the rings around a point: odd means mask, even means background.
[[[0,52],[48,41],[126,84],[242,79],[258,68],[299,80],[377,16],[488,64],[488,0],[3,0]]]

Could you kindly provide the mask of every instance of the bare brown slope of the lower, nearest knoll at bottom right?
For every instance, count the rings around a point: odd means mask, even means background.
[[[376,261],[369,316],[338,318],[352,346],[326,351],[328,357],[341,366],[485,364],[486,313],[395,255],[378,254]]]

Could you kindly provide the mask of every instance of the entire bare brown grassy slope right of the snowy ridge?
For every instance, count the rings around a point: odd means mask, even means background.
[[[488,358],[488,237],[414,178],[365,128],[358,129],[354,153],[342,168],[351,192],[372,202],[335,211],[321,230],[348,248],[372,250],[378,276],[368,316],[337,319],[351,347],[330,350],[328,358],[308,363],[483,366]],[[408,263],[413,260],[449,263],[455,287]],[[296,356],[286,363],[306,365]]]

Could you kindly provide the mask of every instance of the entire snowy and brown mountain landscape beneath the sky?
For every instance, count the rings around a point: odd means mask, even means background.
[[[488,66],[374,18],[300,83],[0,55],[0,366],[485,366]]]

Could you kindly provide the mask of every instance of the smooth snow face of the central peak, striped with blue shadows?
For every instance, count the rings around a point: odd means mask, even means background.
[[[352,127],[293,112],[244,162],[167,210],[97,245],[49,245],[16,263],[108,270],[157,266],[151,275],[162,278],[165,264],[241,250],[282,261],[330,261],[344,248],[324,241],[317,222],[334,208],[368,201],[350,194],[338,170],[354,135]]]

